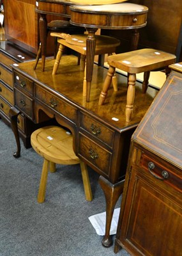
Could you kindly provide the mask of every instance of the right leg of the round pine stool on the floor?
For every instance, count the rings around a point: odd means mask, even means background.
[[[83,184],[84,184],[86,200],[91,201],[91,200],[93,200],[93,197],[92,197],[91,186],[90,186],[90,182],[89,182],[89,175],[87,172],[87,166],[84,162],[81,162],[80,168],[81,168],[81,172],[82,172],[82,180],[83,180]]]

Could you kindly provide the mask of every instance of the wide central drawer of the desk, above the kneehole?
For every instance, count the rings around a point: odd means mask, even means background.
[[[64,102],[63,100],[59,99],[55,95],[43,90],[40,86],[36,84],[35,89],[35,97],[36,99],[40,100],[41,102],[45,103],[50,108],[57,111],[59,114],[65,116],[72,122],[76,122],[77,120],[77,109],[73,108],[70,104]]]

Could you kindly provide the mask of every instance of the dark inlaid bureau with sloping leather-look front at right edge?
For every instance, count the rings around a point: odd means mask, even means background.
[[[115,252],[182,255],[182,63],[171,67],[132,136]]]

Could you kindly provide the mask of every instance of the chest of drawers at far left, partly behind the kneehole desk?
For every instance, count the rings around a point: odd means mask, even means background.
[[[27,52],[7,41],[0,42],[0,116],[10,124],[9,111],[14,104],[13,76],[11,64],[33,60],[34,54]],[[29,136],[31,122],[24,115],[19,115],[19,132],[25,147],[30,147]]]

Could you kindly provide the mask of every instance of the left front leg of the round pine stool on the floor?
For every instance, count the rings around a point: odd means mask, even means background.
[[[40,186],[39,186],[38,196],[37,196],[38,203],[43,203],[45,200],[48,170],[49,170],[49,161],[44,159],[43,167],[42,167],[42,175],[40,179]]]

